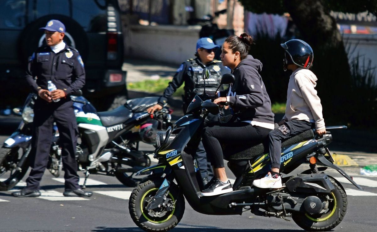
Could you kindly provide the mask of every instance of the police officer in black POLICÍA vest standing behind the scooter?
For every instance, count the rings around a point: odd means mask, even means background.
[[[184,83],[183,112],[186,113],[187,107],[196,94],[201,95],[204,90],[204,80],[202,72],[207,68],[211,72],[211,78],[205,80],[206,94],[213,96],[221,81],[221,75],[230,73],[230,69],[222,66],[221,61],[214,60],[216,49],[219,46],[214,44],[210,38],[200,38],[196,43],[196,58],[190,59],[179,66],[174,78],[169,82],[169,86],[165,89],[164,94],[159,98],[159,103],[150,107],[147,111],[152,113],[155,110],[161,110],[167,100],[181,87]],[[215,117],[217,120],[217,117]],[[210,119],[213,120],[213,119]],[[196,151],[199,169],[202,175],[203,184],[208,183],[208,179],[213,177],[213,171],[210,163],[207,161],[207,153],[205,153],[202,142],[199,143]]]

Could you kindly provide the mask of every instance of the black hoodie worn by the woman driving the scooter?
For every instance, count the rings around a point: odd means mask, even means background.
[[[261,61],[247,55],[233,70],[236,80],[220,96],[230,96],[229,103],[233,111],[239,112],[241,121],[254,121],[274,124],[271,100],[259,72]]]

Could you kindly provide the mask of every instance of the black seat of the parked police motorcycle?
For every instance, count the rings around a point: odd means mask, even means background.
[[[126,122],[127,119],[132,117],[132,111],[121,105],[114,110],[98,112],[98,116],[104,127],[110,127]]]

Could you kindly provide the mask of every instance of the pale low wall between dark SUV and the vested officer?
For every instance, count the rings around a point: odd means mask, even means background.
[[[130,25],[125,34],[126,56],[181,64],[195,58],[200,29],[200,26]]]

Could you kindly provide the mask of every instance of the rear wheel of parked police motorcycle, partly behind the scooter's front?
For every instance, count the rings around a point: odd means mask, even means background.
[[[138,168],[135,166],[134,167],[125,166],[125,165],[121,166],[118,164],[118,167],[116,168],[117,171],[115,171],[116,179],[118,179],[123,185],[129,186],[129,187],[135,187],[136,185],[139,185],[141,182],[144,182],[144,178],[142,176],[136,177],[136,172],[150,166],[149,156],[145,155],[145,158],[147,160],[147,163],[146,163],[146,166],[144,167]],[[122,170],[123,168],[133,169],[133,171],[130,171],[130,172],[118,171],[118,170]]]

